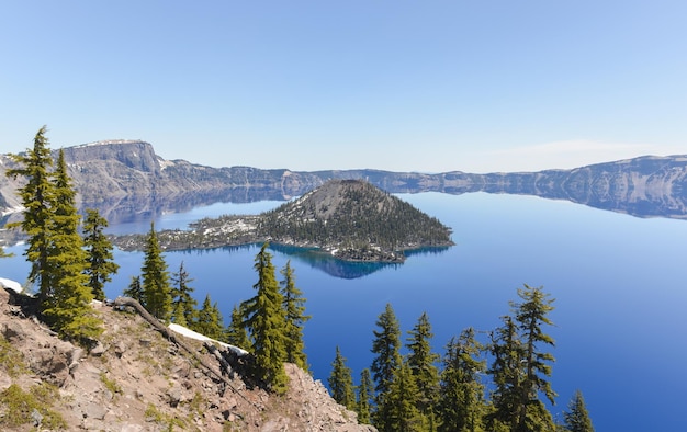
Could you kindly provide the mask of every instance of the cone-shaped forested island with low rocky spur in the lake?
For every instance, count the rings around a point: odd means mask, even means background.
[[[329,180],[259,215],[203,218],[189,229],[156,232],[165,250],[273,242],[317,249],[346,261],[403,262],[404,251],[452,246],[451,228],[364,180]],[[111,236],[143,250],[145,235]]]

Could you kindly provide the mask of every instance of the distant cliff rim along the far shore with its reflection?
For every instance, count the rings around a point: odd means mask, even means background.
[[[57,150],[55,150],[56,152]],[[437,174],[373,169],[291,171],[250,167],[212,168],[185,160],[165,160],[149,143],[110,140],[66,147],[69,174],[80,205],[92,206],[111,221],[147,217],[164,211],[215,202],[283,201],[329,179],[364,179],[390,193],[471,192],[537,195],[567,200],[639,217],[687,218],[687,156],[654,157],[598,163],[572,170],[473,174]],[[20,206],[16,187],[0,156],[0,215]]]

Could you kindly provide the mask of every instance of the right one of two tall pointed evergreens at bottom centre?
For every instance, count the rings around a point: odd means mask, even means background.
[[[433,408],[437,405],[439,390],[439,370],[436,363],[439,361],[439,355],[431,352],[430,341],[433,333],[427,314],[423,312],[417,325],[408,334],[406,346],[409,354],[407,363],[419,391],[417,408],[421,413],[423,430],[435,431]]]

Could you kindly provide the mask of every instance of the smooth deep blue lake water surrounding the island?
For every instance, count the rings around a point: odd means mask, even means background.
[[[455,246],[417,253],[401,265],[338,268],[292,250],[272,250],[279,270],[291,260],[313,318],[305,327],[315,378],[326,379],[339,345],[353,377],[372,362],[376,317],[391,303],[402,330],[426,311],[442,354],[452,336],[472,326],[497,327],[522,284],[555,298],[551,314],[556,362],[551,383],[554,413],[576,389],[598,431],[687,430],[682,412],[687,374],[687,221],[641,219],[564,201],[484,193],[399,194],[453,229]],[[162,215],[157,228],[183,228],[225,213],[254,214],[278,202],[216,204]],[[146,232],[146,221],[111,227]],[[21,250],[11,251],[21,254]],[[184,268],[196,297],[210,294],[228,323],[232,307],[254,295],[257,246],[168,252],[170,272]],[[119,252],[120,273],[106,293],[115,297],[139,274],[142,253]],[[334,270],[333,270],[334,269]],[[24,281],[23,257],[0,260],[0,276]],[[337,274],[338,276],[334,276]],[[346,276],[346,277],[339,277]],[[480,333],[483,341],[486,334]]]

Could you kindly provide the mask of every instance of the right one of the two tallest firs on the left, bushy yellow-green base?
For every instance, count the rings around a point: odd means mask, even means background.
[[[88,264],[79,234],[76,191],[71,186],[61,149],[54,177],[55,203],[47,259],[52,295],[44,302],[43,314],[59,334],[87,343],[89,339],[100,336],[103,327],[91,306],[93,295],[86,274]]]

